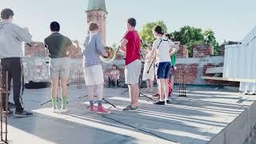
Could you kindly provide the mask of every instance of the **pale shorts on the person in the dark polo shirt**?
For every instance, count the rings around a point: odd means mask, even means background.
[[[70,58],[50,59],[50,78],[69,78]]]

